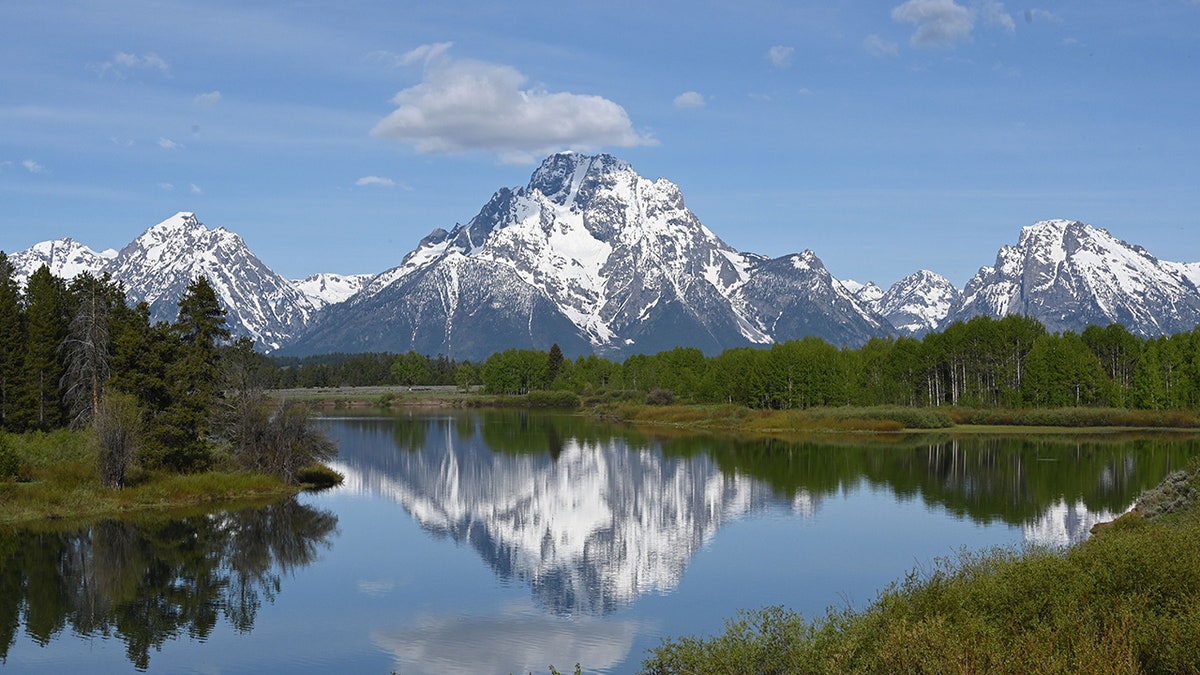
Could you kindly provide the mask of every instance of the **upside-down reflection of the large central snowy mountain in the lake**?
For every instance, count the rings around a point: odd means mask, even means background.
[[[422,442],[408,452],[386,426],[336,429],[347,488],[386,495],[426,530],[469,542],[559,614],[606,614],[672,589],[722,522],[773,498],[707,456],[667,458],[620,437],[564,435],[552,449],[498,453],[481,425],[418,424]]]

